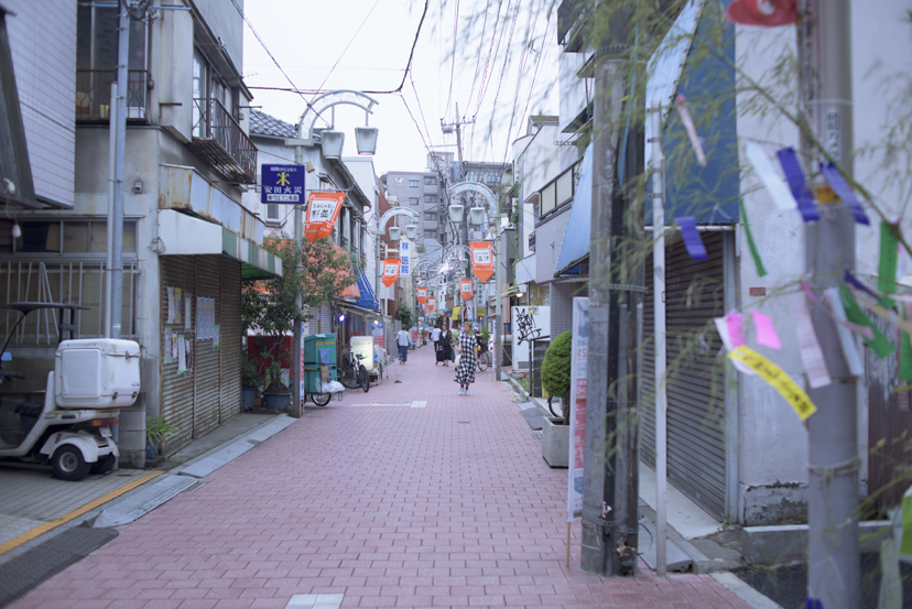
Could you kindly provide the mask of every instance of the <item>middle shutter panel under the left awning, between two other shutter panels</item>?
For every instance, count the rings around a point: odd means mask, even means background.
[[[196,316],[197,298],[215,298],[216,311],[219,301],[219,259],[217,255],[196,255],[196,293],[193,298],[194,347],[193,361],[196,405],[194,409],[194,436],[205,435],[218,426],[219,406],[219,351],[213,347],[213,339],[197,340],[200,326]],[[218,323],[216,320],[216,323]]]

